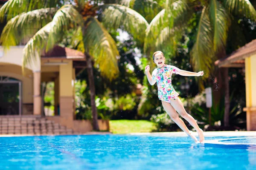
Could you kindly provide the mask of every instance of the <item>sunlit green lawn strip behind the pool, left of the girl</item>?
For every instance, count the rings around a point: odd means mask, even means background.
[[[146,120],[110,120],[110,131],[116,134],[133,132],[151,132],[156,130],[156,123]]]

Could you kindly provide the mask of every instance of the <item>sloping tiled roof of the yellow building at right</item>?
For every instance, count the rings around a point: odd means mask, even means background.
[[[256,39],[238,48],[227,58],[215,61],[215,65],[224,67],[230,64],[244,64],[244,58],[250,57],[253,54],[256,54]]]

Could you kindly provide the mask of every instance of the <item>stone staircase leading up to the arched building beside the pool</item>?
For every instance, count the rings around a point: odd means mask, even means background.
[[[75,132],[43,117],[0,116],[0,134],[70,135]]]

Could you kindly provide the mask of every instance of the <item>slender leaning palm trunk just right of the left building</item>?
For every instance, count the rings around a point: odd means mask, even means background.
[[[98,125],[98,113],[95,103],[95,84],[94,84],[94,77],[93,77],[93,65],[92,60],[89,54],[85,53],[86,56],[86,63],[87,63],[87,74],[89,79],[89,88],[90,88],[90,101],[91,101],[91,108],[92,108],[92,115],[93,115],[93,130],[99,130]]]

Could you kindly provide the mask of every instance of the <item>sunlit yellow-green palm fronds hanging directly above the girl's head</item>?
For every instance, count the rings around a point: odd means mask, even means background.
[[[145,30],[144,53],[149,57],[156,51],[171,46],[177,48],[184,21],[190,16],[186,0],[121,0],[121,4],[139,12],[146,18],[149,26]],[[148,58],[152,64],[152,57]]]

